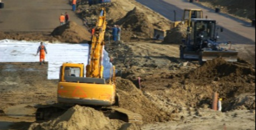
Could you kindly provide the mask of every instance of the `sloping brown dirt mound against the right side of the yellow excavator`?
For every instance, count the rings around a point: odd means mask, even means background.
[[[116,85],[120,95],[120,107],[141,114],[144,123],[172,120],[170,112],[158,108],[131,81],[117,78]]]

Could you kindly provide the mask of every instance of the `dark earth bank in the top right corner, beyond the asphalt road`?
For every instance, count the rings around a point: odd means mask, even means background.
[[[221,10],[239,17],[255,19],[255,0],[200,0],[208,2],[211,7],[221,7]]]

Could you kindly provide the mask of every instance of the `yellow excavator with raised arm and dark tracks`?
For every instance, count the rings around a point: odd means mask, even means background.
[[[90,58],[86,65],[86,77],[84,77],[84,64],[63,63],[60,67],[58,103],[39,105],[36,120],[56,118],[68,108],[78,104],[102,111],[110,119],[142,125],[140,114],[123,108],[111,107],[118,106],[119,97],[115,86],[115,66],[110,70],[108,82],[103,77],[102,59],[106,25],[105,8],[101,8],[95,33],[92,35],[92,41],[89,42]]]

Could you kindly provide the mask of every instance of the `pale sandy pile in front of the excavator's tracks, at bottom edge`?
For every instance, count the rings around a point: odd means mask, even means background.
[[[134,124],[110,120],[100,111],[75,105],[55,120],[31,124],[29,130],[122,130],[124,126],[138,130]]]

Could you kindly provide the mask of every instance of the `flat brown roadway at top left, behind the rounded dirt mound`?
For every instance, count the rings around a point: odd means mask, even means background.
[[[51,32],[59,26],[59,16],[68,12],[70,20],[82,25],[68,0],[2,0],[0,31]]]

